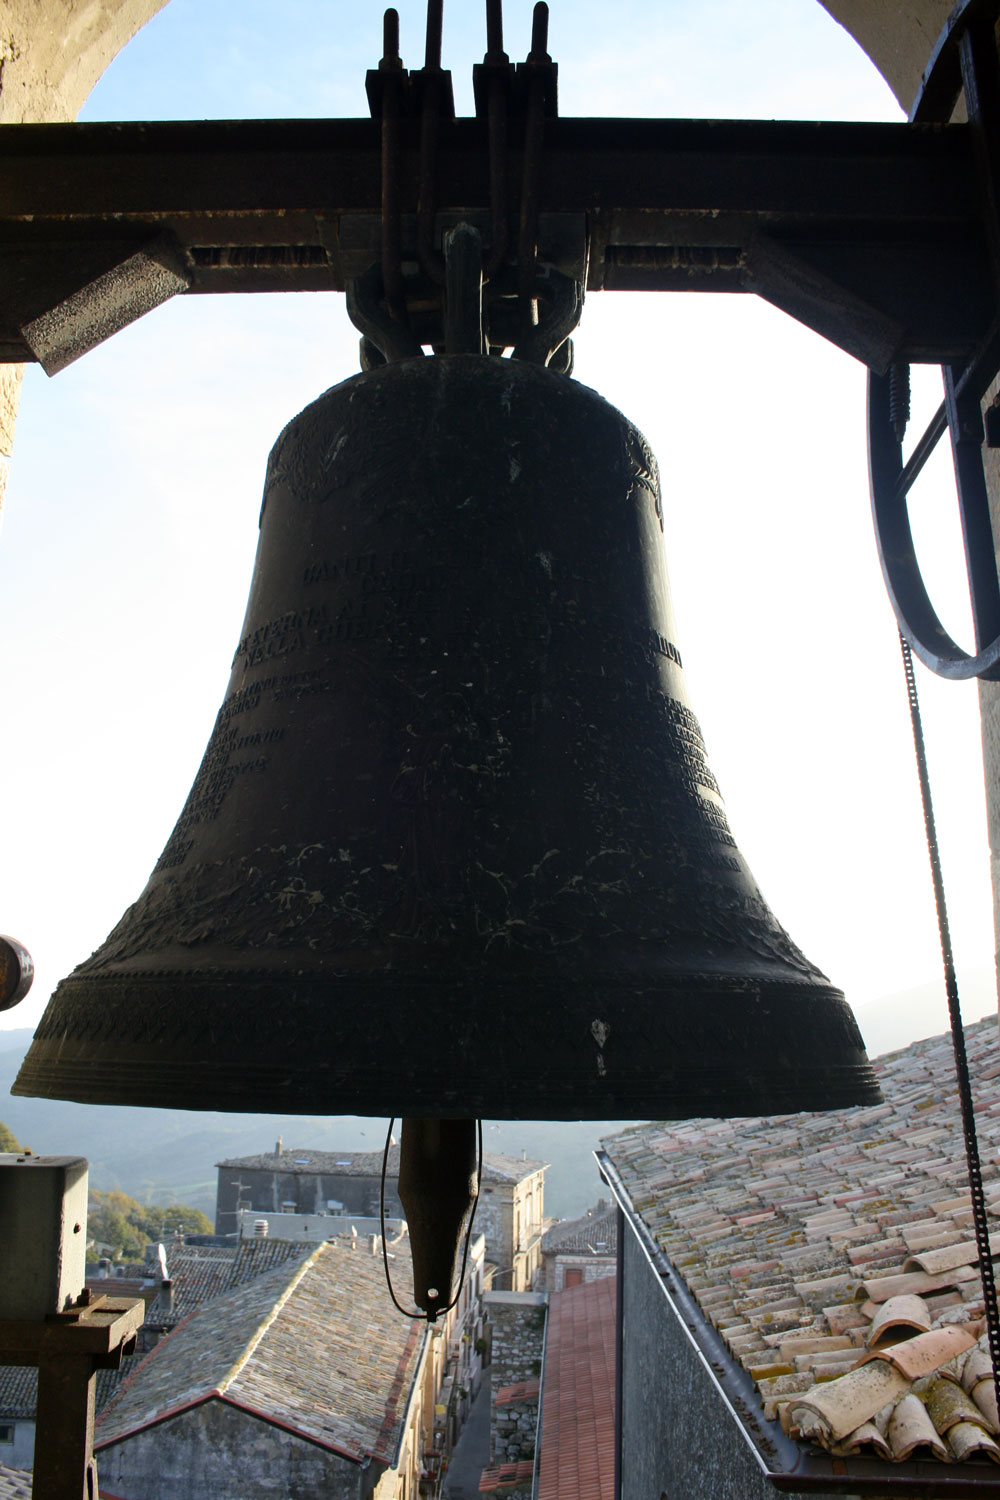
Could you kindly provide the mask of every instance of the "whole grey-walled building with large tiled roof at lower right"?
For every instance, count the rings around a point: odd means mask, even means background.
[[[996,1020],[967,1042],[996,1216]],[[879,1106],[604,1143],[621,1500],[1000,1494],[951,1036],[874,1066]]]

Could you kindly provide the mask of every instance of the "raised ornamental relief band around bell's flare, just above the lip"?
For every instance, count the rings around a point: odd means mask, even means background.
[[[660,951],[667,970],[670,950],[687,954],[708,939],[717,960],[766,958],[822,978],[745,876],[741,890],[738,873],[742,867],[732,872],[729,861],[706,862],[690,872],[684,902],[670,903],[648,861],[631,870],[624,850],[592,855],[586,879],[552,850],[528,870],[501,876],[471,862],[460,878],[445,882],[433,867],[421,880],[411,855],[385,862],[360,860],[349,846],[325,842],[300,849],[258,846],[211,864],[165,870],[75,972],[111,970],[136,958],[156,964],[156,954],[178,950],[187,950],[192,962],[199,962],[199,951],[226,951],[228,963],[240,952],[301,950],[303,962],[331,974],[358,964],[391,969],[403,951],[409,963],[417,962],[417,944],[426,963],[448,956],[448,962],[487,963],[504,952],[564,950],[576,974],[600,966],[603,945],[633,933],[634,944]],[[612,960],[607,968],[615,972]]]

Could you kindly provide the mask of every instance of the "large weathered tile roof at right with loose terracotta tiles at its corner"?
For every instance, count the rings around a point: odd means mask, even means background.
[[[966,1036],[1000,1230],[996,1017]],[[643,1125],[604,1149],[766,1416],[841,1456],[1000,1462],[951,1036],[874,1068],[879,1106]]]

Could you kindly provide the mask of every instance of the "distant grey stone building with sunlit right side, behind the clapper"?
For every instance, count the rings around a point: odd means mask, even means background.
[[[217,1162],[216,1233],[231,1234],[240,1214],[292,1214],[331,1218],[355,1215],[378,1220],[382,1174],[381,1150],[286,1149],[232,1156]],[[385,1215],[403,1216],[397,1192],[399,1146],[391,1146],[385,1172]],[[546,1162],[504,1156],[483,1158],[483,1192],[475,1228],[486,1236],[486,1258],[493,1286],[523,1292],[531,1287],[541,1260]]]

